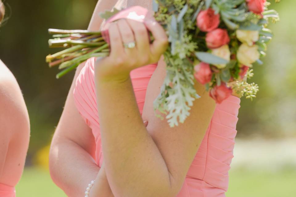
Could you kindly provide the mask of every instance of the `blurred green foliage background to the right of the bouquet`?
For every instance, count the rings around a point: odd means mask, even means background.
[[[273,40],[268,44],[264,65],[254,66],[253,81],[259,85],[253,102],[242,99],[237,124],[238,137],[284,138],[296,136],[296,1],[272,3],[280,21],[271,24]]]

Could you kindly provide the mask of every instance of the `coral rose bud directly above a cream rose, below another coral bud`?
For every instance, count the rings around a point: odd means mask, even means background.
[[[215,49],[228,44],[230,39],[227,30],[216,29],[207,33],[206,42],[209,49]]]

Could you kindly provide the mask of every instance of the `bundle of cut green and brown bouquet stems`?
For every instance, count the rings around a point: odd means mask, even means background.
[[[46,56],[49,67],[59,66],[59,69],[63,69],[56,78],[61,78],[88,58],[109,55],[109,44],[100,31],[48,29],[48,33],[53,34],[53,38],[48,40],[49,47],[65,48]],[[150,40],[153,40],[151,34]]]

